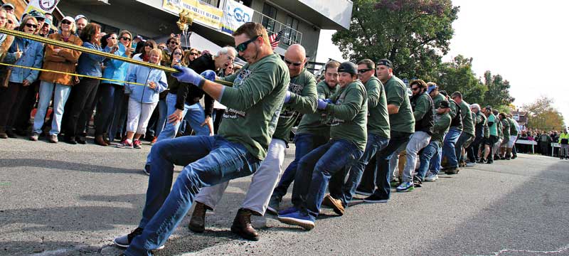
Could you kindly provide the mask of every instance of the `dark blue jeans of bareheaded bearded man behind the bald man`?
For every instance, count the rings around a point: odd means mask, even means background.
[[[294,161],[289,164],[285,172],[282,174],[277,187],[272,191],[271,197],[276,197],[281,201],[282,197],[287,194],[290,184],[294,181],[294,176],[297,174],[297,166],[300,159],[310,153],[313,149],[326,144],[329,139],[330,138],[327,136],[316,134],[294,135]]]

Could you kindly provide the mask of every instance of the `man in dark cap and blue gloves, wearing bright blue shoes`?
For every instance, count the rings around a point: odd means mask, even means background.
[[[357,77],[357,66],[349,61],[338,68],[338,91],[328,100],[318,100],[318,109],[331,117],[330,141],[304,156],[292,188],[291,208],[279,212],[282,223],[314,228],[329,179],[360,159],[367,141],[368,99]]]

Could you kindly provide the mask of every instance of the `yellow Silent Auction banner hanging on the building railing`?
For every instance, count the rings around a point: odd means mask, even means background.
[[[204,4],[199,0],[164,0],[162,8],[176,15],[181,11],[188,10],[193,21],[212,28],[221,28],[223,10]]]

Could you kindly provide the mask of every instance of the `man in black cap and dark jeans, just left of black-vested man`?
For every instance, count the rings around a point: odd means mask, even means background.
[[[378,170],[373,188],[376,188],[377,185],[377,189],[373,191],[371,196],[363,199],[366,203],[386,203],[389,201],[391,194],[390,170],[395,168],[390,163],[392,155],[400,147],[403,146],[405,148],[411,134],[415,132],[415,117],[413,117],[413,110],[411,110],[407,87],[402,80],[393,75],[393,64],[391,61],[387,59],[379,60],[376,65],[376,74],[385,87],[390,138],[385,149],[376,153]]]

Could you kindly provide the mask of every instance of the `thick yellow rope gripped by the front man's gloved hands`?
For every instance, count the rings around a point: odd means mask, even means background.
[[[166,72],[170,72],[170,73],[178,73],[178,70],[176,70],[175,68],[169,68],[169,67],[165,67],[162,65],[156,65],[156,64],[152,64],[152,63],[147,63],[144,61],[140,61],[140,60],[133,60],[132,58],[127,58],[124,56],[119,56],[119,55],[115,55],[112,53],[107,53],[101,50],[95,50],[95,49],[91,49],[91,48],[86,48],[83,46],[76,46],[73,43],[65,43],[62,41],[57,41],[57,40],[53,40],[50,38],[44,38],[41,36],[36,36],[30,33],[23,33],[22,31],[16,31],[16,30],[11,30],[11,29],[6,29],[6,28],[0,28],[0,33],[5,33],[6,35],[10,35],[10,36],[17,36],[17,37],[21,37],[21,38],[26,38],[26,39],[30,39],[33,41],[38,41],[40,43],[47,43],[49,45],[52,46],[59,46],[61,48],[68,48],[71,50],[78,50],[82,53],[90,53],[93,55],[98,55],[98,56],[103,56],[106,58],[112,58],[114,60],[122,60],[126,63],[132,63],[135,65],[142,65],[144,67],[147,68],[154,68],[157,70],[162,70],[162,71],[166,71]],[[233,82],[228,82],[225,80],[216,80],[217,83],[221,84],[221,85],[228,85],[231,86],[233,85]]]

